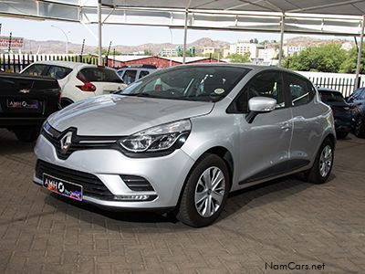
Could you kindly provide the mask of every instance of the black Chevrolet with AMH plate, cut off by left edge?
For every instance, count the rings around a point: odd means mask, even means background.
[[[0,128],[33,142],[49,114],[60,109],[57,79],[0,73]]]

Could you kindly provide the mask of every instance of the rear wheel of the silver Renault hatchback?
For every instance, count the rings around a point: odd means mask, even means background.
[[[313,184],[323,184],[327,181],[333,166],[334,148],[335,148],[334,143],[329,139],[326,139],[321,144],[312,168],[309,169],[308,172],[306,173],[307,182]],[[328,149],[330,151],[328,151]],[[329,152],[330,154],[328,154]],[[328,156],[326,156],[326,154],[328,154]]]

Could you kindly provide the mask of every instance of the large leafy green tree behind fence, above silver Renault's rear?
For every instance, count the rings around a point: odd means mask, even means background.
[[[339,72],[347,53],[339,44],[329,43],[305,50],[287,57],[283,67],[301,71]]]

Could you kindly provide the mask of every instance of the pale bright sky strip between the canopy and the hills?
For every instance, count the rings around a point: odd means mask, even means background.
[[[37,21],[19,18],[1,17],[1,35],[9,36],[12,32],[13,37],[25,37],[33,40],[60,40],[66,41],[61,28],[68,35],[70,43],[81,44],[85,38],[88,46],[97,46],[97,26],[84,26],[80,23],[69,23],[60,21]],[[59,28],[57,28],[57,27]],[[93,33],[93,35],[91,34]],[[222,40],[235,43],[238,39],[260,40],[280,40],[279,34],[272,33],[248,33],[234,31],[207,31],[207,30],[188,30],[188,43],[199,38],[209,37],[214,40]],[[297,35],[286,35],[285,38],[297,37]],[[112,45],[137,46],[146,43],[170,43],[183,44],[183,29],[170,29],[163,26],[103,26],[103,46],[108,47],[110,41]],[[321,37],[333,38],[333,37]],[[339,38],[339,37],[338,37]],[[349,37],[348,37],[349,38]]]

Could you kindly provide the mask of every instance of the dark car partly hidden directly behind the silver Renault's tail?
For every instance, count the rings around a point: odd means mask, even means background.
[[[321,100],[328,104],[335,118],[338,139],[345,138],[351,131],[351,108],[338,90],[318,88]]]

